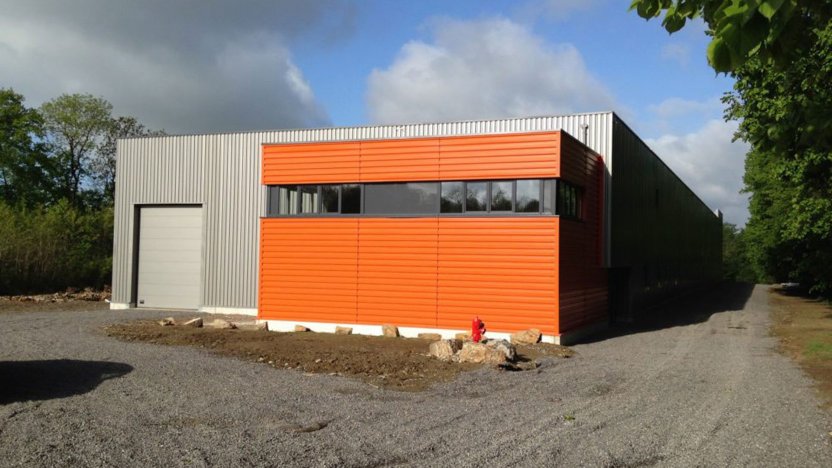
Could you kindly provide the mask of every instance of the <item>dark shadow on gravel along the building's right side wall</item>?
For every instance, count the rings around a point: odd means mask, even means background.
[[[753,284],[723,283],[707,291],[688,293],[644,311],[633,323],[614,324],[579,343],[706,322],[713,314],[742,310],[753,290]]]

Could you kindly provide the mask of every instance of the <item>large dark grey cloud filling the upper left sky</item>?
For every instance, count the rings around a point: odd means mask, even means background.
[[[326,125],[289,44],[343,11],[313,3],[0,0],[0,84],[29,105],[99,95],[169,132]]]

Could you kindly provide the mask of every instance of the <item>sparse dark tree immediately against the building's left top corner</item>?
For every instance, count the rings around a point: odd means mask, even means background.
[[[148,130],[134,117],[117,117],[104,134],[104,139],[90,163],[90,175],[106,200],[111,203],[116,186],[116,142],[119,138],[162,136],[163,130]]]

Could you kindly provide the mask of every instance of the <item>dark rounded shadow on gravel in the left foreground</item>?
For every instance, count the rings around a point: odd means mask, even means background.
[[[0,404],[81,395],[132,370],[106,361],[0,361]]]

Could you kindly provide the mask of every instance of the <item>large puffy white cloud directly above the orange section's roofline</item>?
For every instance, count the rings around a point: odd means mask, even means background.
[[[376,123],[609,110],[610,92],[571,44],[549,44],[507,19],[437,22],[369,77]]]

